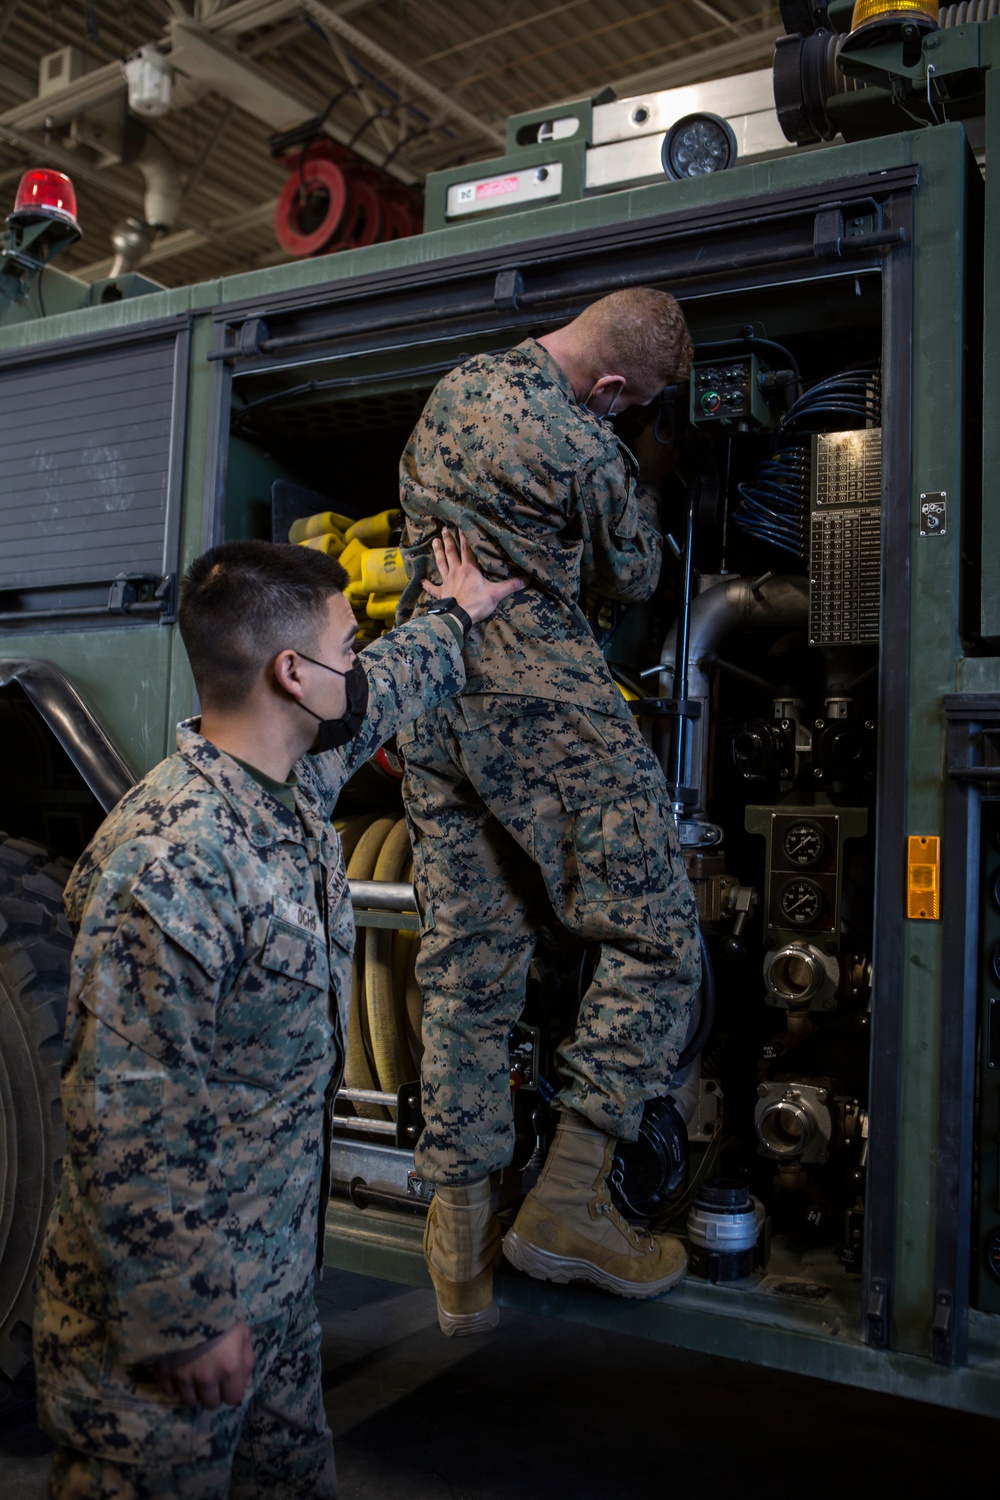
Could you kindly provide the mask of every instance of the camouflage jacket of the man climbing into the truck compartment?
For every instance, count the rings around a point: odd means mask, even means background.
[[[436,582],[430,538],[462,530],[489,578],[531,586],[466,638],[468,693],[517,693],[622,714],[577,600],[649,598],[663,540],[657,490],[610,424],[535,339],[478,356],[438,382],[400,462],[411,582],[397,618]],[[426,608],[426,603],[420,608]]]

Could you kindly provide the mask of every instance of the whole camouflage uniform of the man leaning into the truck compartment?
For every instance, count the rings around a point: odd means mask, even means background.
[[[663,771],[579,608],[657,585],[657,495],[528,339],[435,388],[403,453],[406,618],[460,528],[487,576],[528,590],[466,638],[465,693],[400,736],[423,909],[423,1112],[417,1164],[463,1182],[510,1160],[507,1032],[550,914],[600,945],[559,1102],[634,1138],[687,1034],[699,981],[694,902]]]

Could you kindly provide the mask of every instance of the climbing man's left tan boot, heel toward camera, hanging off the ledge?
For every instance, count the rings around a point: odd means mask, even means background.
[[[499,1224],[490,1212],[490,1179],[435,1188],[424,1228],[424,1258],[438,1296],[441,1332],[486,1334],[499,1323],[493,1262]]]

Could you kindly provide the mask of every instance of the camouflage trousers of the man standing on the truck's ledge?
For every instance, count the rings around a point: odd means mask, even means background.
[[[510,1161],[507,1034],[552,914],[594,945],[556,1053],[558,1102],[634,1140],[666,1092],[700,980],[697,916],[663,771],[630,718],[466,694],[399,736],[421,909],[430,1182]]]

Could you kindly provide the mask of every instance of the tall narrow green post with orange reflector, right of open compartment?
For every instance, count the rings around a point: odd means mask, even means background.
[[[913,462],[912,494],[895,496],[912,518],[910,684],[907,726],[907,832],[937,834],[943,824],[945,720],[942,698],[955,688],[961,657],[961,502],[964,411],[964,240],[970,156],[963,130],[942,126],[918,142],[921,183],[913,232]],[[892,420],[892,414],[888,414]],[[919,536],[919,495],[948,494],[945,536]],[[894,567],[894,558],[883,566]],[[904,768],[900,768],[903,771]],[[903,867],[904,850],[882,850]],[[948,879],[948,870],[943,873]],[[934,1158],[939,993],[939,922],[904,922],[904,1005],[900,1036],[900,1160],[897,1202],[895,1342],[930,1353],[933,1312]],[[885,922],[889,914],[882,912]],[[889,918],[891,920],[891,918]],[[877,994],[876,976],[876,994]]]

